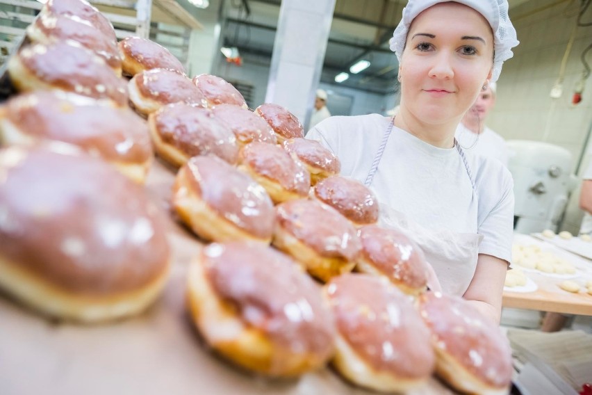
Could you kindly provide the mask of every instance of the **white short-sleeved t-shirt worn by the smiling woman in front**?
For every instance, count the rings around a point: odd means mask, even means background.
[[[306,138],[319,140],[341,162],[341,175],[364,182],[390,118],[379,114],[331,117]],[[388,204],[428,229],[478,233],[479,254],[511,261],[513,182],[498,161],[466,154],[468,171],[456,147],[434,147],[393,127],[370,188]],[[475,207],[477,204],[477,207]],[[476,208],[476,209],[475,209]],[[477,212],[477,218],[468,213]]]

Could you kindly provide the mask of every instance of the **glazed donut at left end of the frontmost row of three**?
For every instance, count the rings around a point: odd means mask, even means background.
[[[334,352],[335,325],[318,285],[268,246],[208,245],[189,268],[188,306],[209,346],[257,373],[296,376]]]

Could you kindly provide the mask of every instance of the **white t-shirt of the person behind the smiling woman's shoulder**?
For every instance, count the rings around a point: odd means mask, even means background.
[[[465,152],[476,155],[491,156],[508,167],[508,147],[502,136],[485,127],[480,134],[473,133],[462,123],[455,134],[457,141]]]

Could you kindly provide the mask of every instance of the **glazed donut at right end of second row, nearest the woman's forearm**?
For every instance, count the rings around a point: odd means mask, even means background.
[[[404,293],[418,295],[427,288],[427,262],[422,250],[395,229],[368,225],[360,229],[362,253],[356,270],[382,275]]]

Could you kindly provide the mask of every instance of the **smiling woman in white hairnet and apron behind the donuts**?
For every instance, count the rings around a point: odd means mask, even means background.
[[[518,45],[506,0],[410,0],[391,39],[397,115],[333,117],[307,138],[370,186],[384,225],[424,250],[446,293],[499,322],[511,257],[513,184],[497,161],[465,154],[454,131]],[[495,50],[495,51],[494,51]]]

